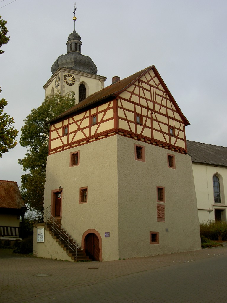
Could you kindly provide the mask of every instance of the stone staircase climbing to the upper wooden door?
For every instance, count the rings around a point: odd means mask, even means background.
[[[75,262],[80,261],[92,261],[81,250],[79,245],[67,234],[62,228],[61,223],[55,220],[53,217],[46,221],[45,228],[49,231],[49,234],[58,242],[58,245],[67,253],[69,257]]]

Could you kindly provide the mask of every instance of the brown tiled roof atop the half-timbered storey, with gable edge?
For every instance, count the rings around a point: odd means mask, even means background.
[[[139,79],[142,75],[144,75],[147,71],[149,71],[150,69],[153,69],[154,73],[156,74],[156,76],[158,77],[159,81],[161,82],[163,88],[168,92],[169,97],[172,99],[176,109],[179,112],[179,115],[181,115],[181,117],[183,118],[183,121],[185,122],[186,125],[189,125],[190,123],[188,122],[188,120],[185,118],[185,116],[183,115],[183,113],[181,112],[179,106],[177,105],[176,101],[174,100],[173,96],[171,95],[171,93],[169,92],[169,89],[167,88],[167,86],[165,85],[163,79],[161,78],[161,76],[159,75],[159,72],[156,70],[156,67],[154,65],[151,65],[147,68],[142,69],[141,71],[127,77],[124,78],[118,82],[116,82],[115,84],[111,84],[103,89],[101,89],[100,91],[90,95],[89,97],[87,97],[86,99],[84,99],[83,101],[81,101],[80,103],[74,105],[73,107],[71,107],[70,109],[68,109],[66,112],[62,113],[61,115],[59,115],[58,117],[55,117],[54,119],[46,122],[46,123],[50,123],[50,122],[54,122],[57,121],[63,117],[66,117],[72,113],[75,113],[77,111],[82,110],[83,108],[86,108],[87,106],[93,105],[97,102],[100,102],[101,100],[107,99],[107,98],[114,98],[114,96],[119,95],[121,92],[123,92],[127,87],[129,87],[132,83],[134,83],[137,79]]]

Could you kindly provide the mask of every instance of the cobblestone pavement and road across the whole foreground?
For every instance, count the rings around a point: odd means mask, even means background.
[[[224,303],[226,262],[227,246],[81,263],[0,251],[0,302]]]

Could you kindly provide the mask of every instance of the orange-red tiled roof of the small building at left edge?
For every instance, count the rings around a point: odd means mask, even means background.
[[[17,182],[0,180],[0,207],[21,208],[24,204]]]

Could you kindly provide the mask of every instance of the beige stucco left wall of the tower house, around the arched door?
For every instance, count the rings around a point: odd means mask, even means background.
[[[80,152],[79,165],[70,167],[70,153]],[[118,259],[117,136],[104,138],[48,156],[44,208],[51,190],[61,187],[63,228],[81,245],[85,231],[102,238],[102,259]],[[87,203],[79,204],[79,188],[87,187]],[[110,232],[110,238],[104,233]]]

